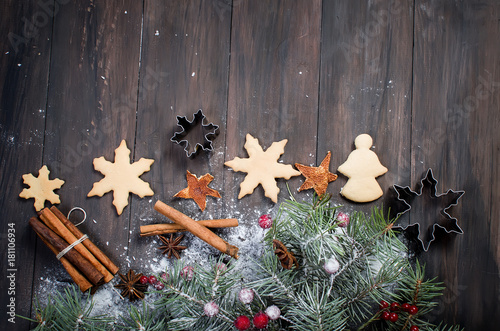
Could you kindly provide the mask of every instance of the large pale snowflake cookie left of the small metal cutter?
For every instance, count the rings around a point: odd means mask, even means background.
[[[130,163],[130,150],[125,140],[122,140],[120,146],[115,149],[114,163],[107,161],[104,156],[94,159],[95,170],[102,173],[104,178],[94,183],[87,196],[102,197],[105,193],[113,191],[113,205],[118,215],[121,215],[123,208],[128,205],[129,193],[137,194],[141,198],[154,194],[149,183],[139,178],[149,171],[153,162],[152,159],[141,158],[137,162]]]

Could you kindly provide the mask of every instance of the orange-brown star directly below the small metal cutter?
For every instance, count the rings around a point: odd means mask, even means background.
[[[208,184],[210,184],[210,182],[214,180],[214,176],[205,174],[198,178],[190,173],[189,170],[186,170],[186,179],[188,182],[188,187],[177,192],[174,197],[193,199],[198,207],[200,207],[201,211],[204,211],[207,206],[207,195],[216,198],[221,197],[218,191],[208,187]]]

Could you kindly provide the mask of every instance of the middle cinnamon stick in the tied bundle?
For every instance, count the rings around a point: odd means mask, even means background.
[[[54,215],[49,208],[42,209],[39,216],[45,225],[66,240],[68,244],[74,243],[79,239],[75,237],[75,235],[71,233],[66,226],[64,226],[61,220],[59,220],[59,218],[57,218],[57,216]],[[99,270],[99,272],[104,276],[104,282],[107,283],[114,278],[108,269],[106,269],[84,245],[78,244],[74,247],[74,249],[87,259],[97,270]]]

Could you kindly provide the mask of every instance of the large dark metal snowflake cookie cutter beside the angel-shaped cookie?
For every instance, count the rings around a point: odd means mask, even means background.
[[[423,204],[419,206],[421,211],[424,211],[424,208],[422,207],[429,207],[429,204],[434,204],[434,206],[437,206],[440,209],[439,217],[437,219],[432,217],[433,220],[430,221],[429,217],[426,221],[424,220],[424,223],[427,223],[426,225],[421,226],[420,222],[411,222],[410,220],[410,224],[407,226],[397,226],[403,230],[416,226],[418,230],[418,240],[420,241],[425,252],[427,252],[430,244],[436,239],[436,228],[441,228],[446,231],[446,233],[464,233],[460,226],[458,226],[458,220],[455,217],[452,217],[447,210],[458,204],[458,200],[465,194],[465,191],[448,190],[446,193],[436,194],[437,183],[438,181],[432,174],[432,169],[429,168],[427,170],[427,174],[420,180],[420,188],[418,189],[418,192],[412,191],[409,186],[403,187],[396,184],[393,185],[393,188],[397,193],[397,199],[406,205],[406,209],[397,214],[398,217],[409,212],[412,209],[412,204],[415,200],[422,200],[422,198],[424,200],[422,201]],[[424,191],[428,194],[424,195]],[[428,209],[429,208],[425,208],[425,211]],[[422,214],[428,215],[429,213],[426,212]],[[422,229],[422,227],[425,228]],[[422,231],[425,232],[422,233]]]

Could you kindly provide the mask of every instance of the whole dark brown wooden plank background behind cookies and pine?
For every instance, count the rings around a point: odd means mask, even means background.
[[[66,181],[60,209],[84,207],[99,221],[83,226],[93,241],[122,270],[144,268],[140,256],[154,248],[138,227],[158,220],[157,199],[198,219],[239,213],[243,226],[273,207],[261,188],[237,200],[244,175],[223,166],[246,155],[247,133],[265,147],[288,138],[286,163],[318,164],[331,150],[332,171],[370,134],[387,194],[354,205],[338,194],[341,176],[329,192],[352,209],[390,204],[393,184],[415,187],[427,168],[438,193],[465,190],[451,211],[464,235],[440,236],[417,256],[447,286],[433,318],[469,330],[500,322],[498,1],[0,0],[0,15],[0,329],[28,328],[4,312],[7,223],[16,313],[30,314],[41,278],[60,268],[27,225],[22,174],[48,165]],[[200,108],[220,134],[212,153],[188,159],[169,139],[175,116]],[[122,139],[135,160],[155,159],[142,176],[155,196],[132,196],[118,217],[111,194],[86,195],[102,178],[93,158],[113,159]],[[222,193],[204,213],[172,198],[186,169],[210,172]]]

